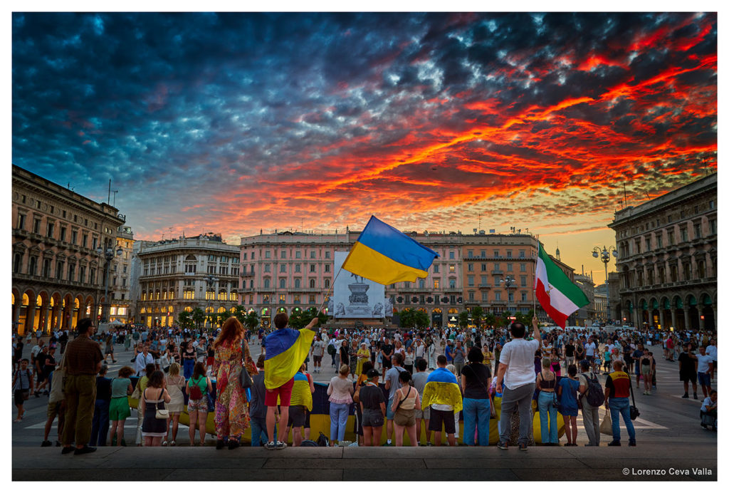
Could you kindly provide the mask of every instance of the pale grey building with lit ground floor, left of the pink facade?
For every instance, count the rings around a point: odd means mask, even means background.
[[[240,247],[212,233],[140,243],[131,267],[134,321],[169,327],[193,308],[206,314],[231,311],[238,305],[240,255]]]

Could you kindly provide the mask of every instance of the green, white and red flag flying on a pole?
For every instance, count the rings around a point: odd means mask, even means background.
[[[534,292],[537,300],[555,324],[564,329],[567,317],[580,307],[588,305],[590,300],[585,293],[572,283],[566,273],[550,259],[547,252],[539,245],[537,256],[537,275],[534,279]]]

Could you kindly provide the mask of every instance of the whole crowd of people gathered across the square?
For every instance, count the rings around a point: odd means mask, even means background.
[[[692,397],[691,384],[693,399],[698,400],[701,385],[701,426],[717,428],[717,391],[712,384],[717,343],[709,333],[623,327],[545,330],[536,319],[531,332],[519,322],[445,330],[314,329],[315,325],[316,319],[307,327],[316,335],[300,368],[275,388],[266,384],[265,348],[277,331],[293,331],[286,314],[274,317],[268,334],[257,330],[262,346],[257,362],[249,350],[253,334],[233,317],[214,333],[123,327],[97,334],[93,321],[82,319],[75,337],[56,331],[45,343],[44,335],[28,334],[26,344],[36,338],[30,359],[23,357],[23,340],[14,337],[15,420],[23,419],[23,403],[31,395],[47,395],[42,446],[52,446],[55,419],[56,446],[63,454],[86,454],[107,443],[126,446],[124,424],[132,415],[131,395],[139,403],[136,445],[176,446],[187,400],[191,446],[205,446],[209,432],[216,437],[217,449],[235,449],[249,427],[252,446],[283,449],[289,432],[293,446],[306,446],[314,443],[312,373],[321,373],[322,364],[330,363],[336,373],[327,387],[330,437],[320,436],[319,445],[349,445],[345,429],[354,411],[359,446],[378,446],[383,432],[384,446],[402,446],[406,434],[411,446],[440,446],[443,432],[450,446],[456,445],[459,434],[467,446],[487,446],[489,422],[496,416],[494,399],[500,398],[501,449],[516,436],[519,449],[532,443],[532,400],[537,403],[543,446],[559,444],[557,414],[564,418],[565,446],[577,446],[580,412],[588,435],[584,445],[599,446],[602,406],[609,409],[612,422],[608,445],[620,446],[623,419],[628,445],[635,446],[631,392],[655,392],[655,360],[662,348],[666,361],[678,362],[682,397]],[[117,362],[115,346],[132,350],[133,357],[117,375],[109,376],[106,363]],[[604,384],[600,373],[606,376]],[[214,414],[214,430],[207,430],[208,413]],[[512,430],[514,413],[520,417],[518,432]]]

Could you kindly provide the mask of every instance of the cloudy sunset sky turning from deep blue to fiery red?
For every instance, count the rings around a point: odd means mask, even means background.
[[[135,238],[480,218],[602,282],[716,159],[714,13],[12,15],[12,162]]]

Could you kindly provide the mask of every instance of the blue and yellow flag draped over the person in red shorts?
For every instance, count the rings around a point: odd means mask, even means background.
[[[266,338],[263,383],[267,389],[281,387],[296,375],[311,349],[313,338],[313,330],[289,328],[276,329]]]

